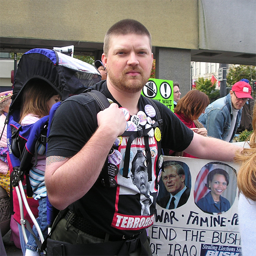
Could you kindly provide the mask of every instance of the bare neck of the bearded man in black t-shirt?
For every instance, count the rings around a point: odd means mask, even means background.
[[[131,116],[139,111],[138,102],[141,91],[137,93],[127,93],[114,87],[109,80],[107,80],[107,87],[114,99],[123,107],[127,108]]]

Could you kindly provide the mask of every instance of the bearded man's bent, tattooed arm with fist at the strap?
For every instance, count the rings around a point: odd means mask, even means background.
[[[125,131],[125,117],[115,103],[100,111],[97,121],[97,130],[76,155],[47,157],[47,194],[57,209],[66,208],[87,193],[99,177],[116,137]]]

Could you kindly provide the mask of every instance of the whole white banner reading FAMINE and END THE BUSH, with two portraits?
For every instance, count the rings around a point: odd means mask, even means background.
[[[164,166],[155,220],[148,230],[153,255],[241,256],[238,165],[164,157]]]

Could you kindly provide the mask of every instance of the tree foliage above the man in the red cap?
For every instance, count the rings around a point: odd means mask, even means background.
[[[227,87],[232,87],[241,79],[248,79],[249,81],[256,80],[256,67],[247,65],[238,65],[229,69],[227,74]]]

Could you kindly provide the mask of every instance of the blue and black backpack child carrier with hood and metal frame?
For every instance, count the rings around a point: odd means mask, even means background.
[[[6,118],[6,123],[8,122],[7,144],[9,157],[13,166],[11,185],[15,187],[17,196],[20,199],[21,216],[23,215],[23,207],[20,193],[23,203],[33,223],[37,227],[37,221],[29,209],[21,181],[23,180],[24,174],[26,174],[27,184],[29,182],[28,174],[32,167],[31,161],[37,154],[39,143],[47,147],[49,120],[52,119],[59,103],[52,107],[50,117],[44,116],[32,125],[21,126],[19,121],[23,89],[32,79],[47,81],[61,96],[62,100],[65,100],[70,95],[79,94],[88,87],[92,87],[93,84],[101,80],[101,76],[98,70],[92,65],[50,49],[32,49],[23,54],[20,59],[13,86],[12,104],[10,105]],[[32,190],[29,191],[29,186],[27,186],[27,193],[29,196],[32,196]],[[26,221],[21,220],[20,224],[23,229],[24,239],[27,241],[24,228]],[[39,226],[37,230],[42,243],[44,237],[40,233]],[[40,248],[39,241],[38,247]]]

